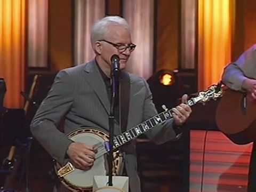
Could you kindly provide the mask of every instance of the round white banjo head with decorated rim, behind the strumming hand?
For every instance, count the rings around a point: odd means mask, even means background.
[[[83,142],[86,143],[86,145],[92,146],[102,143],[102,145],[100,145],[100,147],[98,148],[96,159],[90,170],[84,171],[75,168],[73,172],[68,173],[61,178],[62,184],[71,191],[77,191],[77,189],[79,191],[91,191],[94,175],[107,175],[108,173],[108,161],[106,153],[107,151],[103,145],[103,142],[108,141],[109,136],[106,132],[103,132],[99,129],[83,128],[71,132],[70,134],[68,134],[68,138],[75,142]],[[105,155],[99,156],[102,153],[105,153]],[[121,157],[118,156],[118,151],[114,153],[114,158],[115,161],[113,167],[115,169],[115,167],[120,166],[119,162],[121,162],[119,159]],[[60,169],[60,165],[57,163],[54,166],[55,171],[57,172],[57,170]],[[113,174],[115,174],[115,172]]]

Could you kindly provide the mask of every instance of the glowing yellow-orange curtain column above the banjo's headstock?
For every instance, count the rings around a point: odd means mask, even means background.
[[[198,89],[221,79],[231,59],[234,0],[198,1]]]

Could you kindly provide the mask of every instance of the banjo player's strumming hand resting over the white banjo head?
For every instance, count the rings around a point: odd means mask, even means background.
[[[67,154],[76,168],[85,171],[91,169],[95,161],[95,150],[93,147],[82,142],[71,143]]]

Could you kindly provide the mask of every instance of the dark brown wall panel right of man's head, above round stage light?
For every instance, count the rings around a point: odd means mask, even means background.
[[[180,1],[157,1],[156,71],[178,68]]]

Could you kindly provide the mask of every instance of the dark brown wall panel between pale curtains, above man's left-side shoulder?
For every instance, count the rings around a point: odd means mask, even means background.
[[[49,1],[49,62],[51,70],[73,66],[72,0]]]

